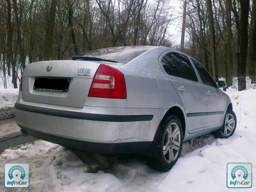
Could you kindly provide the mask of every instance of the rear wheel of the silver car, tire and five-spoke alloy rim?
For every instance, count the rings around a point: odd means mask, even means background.
[[[159,171],[169,171],[180,157],[182,141],[183,132],[180,120],[175,115],[167,117],[161,125],[157,157],[148,159],[149,167]]]

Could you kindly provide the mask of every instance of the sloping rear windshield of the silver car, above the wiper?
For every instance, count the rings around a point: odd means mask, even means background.
[[[90,52],[81,53],[78,56],[97,57],[106,60],[117,61],[118,63],[128,63],[135,57],[151,49],[150,46],[124,46],[98,49]]]

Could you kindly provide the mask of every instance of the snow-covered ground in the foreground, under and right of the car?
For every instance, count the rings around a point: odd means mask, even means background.
[[[150,169],[141,156],[85,153],[84,163],[70,149],[37,140],[11,147],[0,155],[0,190],[5,162],[30,163],[30,191],[256,191],[256,90],[228,89],[237,127],[228,139],[211,134],[186,141],[182,156],[169,172]],[[229,162],[252,163],[249,189],[226,187]],[[7,190],[6,190],[7,191]],[[9,190],[8,190],[9,191]],[[15,191],[22,191],[21,189]]]

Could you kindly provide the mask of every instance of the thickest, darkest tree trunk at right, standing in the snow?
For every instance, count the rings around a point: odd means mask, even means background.
[[[239,0],[241,7],[240,16],[240,53],[237,66],[238,91],[246,89],[246,64],[247,64],[247,47],[248,47],[248,16],[250,9],[250,0]]]

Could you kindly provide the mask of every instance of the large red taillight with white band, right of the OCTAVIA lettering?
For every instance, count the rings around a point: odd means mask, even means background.
[[[126,99],[126,84],[122,72],[101,64],[93,78],[88,97]]]

